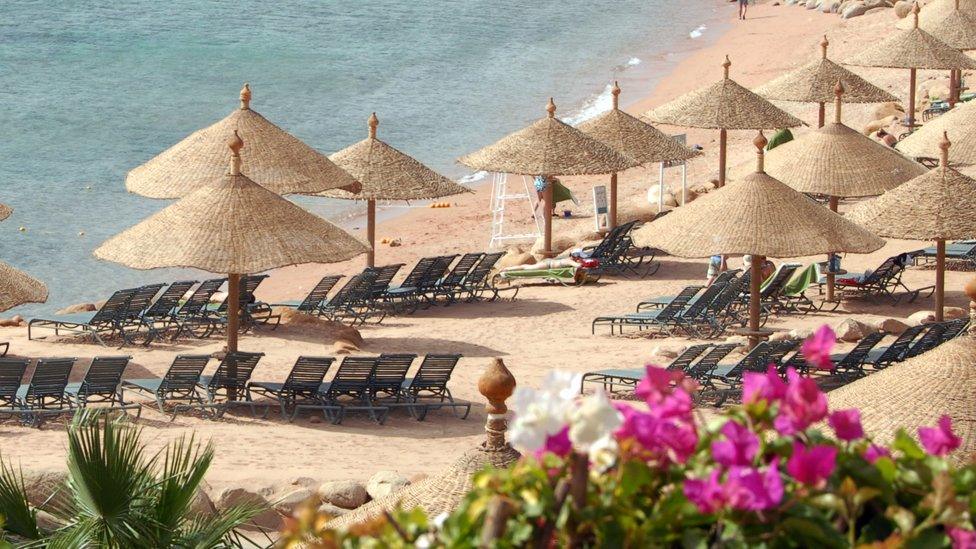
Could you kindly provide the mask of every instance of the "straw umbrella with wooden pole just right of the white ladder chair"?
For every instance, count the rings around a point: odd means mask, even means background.
[[[552,98],[547,116],[487,147],[462,156],[458,162],[496,173],[520,175],[597,175],[620,172],[640,164],[603,142],[556,118]],[[552,257],[552,185],[543,192],[545,231],[543,255]]]

